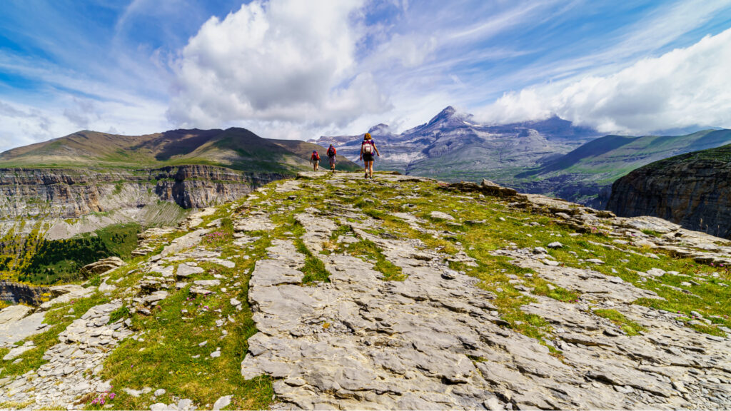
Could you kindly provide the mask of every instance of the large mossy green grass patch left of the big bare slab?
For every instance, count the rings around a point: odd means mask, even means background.
[[[238,207],[233,214],[245,211],[245,208]],[[221,207],[216,214],[205,216],[203,225],[215,219],[221,219],[218,230],[225,235],[232,234],[232,214],[227,208]],[[246,341],[257,332],[248,305],[249,276],[254,263],[265,258],[265,249],[270,246],[271,238],[281,236],[282,230],[257,233],[260,238],[244,250],[232,245],[230,238],[226,241],[202,241],[201,246],[215,249],[221,252],[221,257],[230,258],[235,268],[199,263],[205,272],[194,274],[191,279],[213,279],[215,276],[235,279],[236,287],[229,293],[204,297],[193,295],[189,293],[189,287],[184,287],[161,301],[150,316],[131,314],[126,307],[110,314],[110,320],[130,318],[132,329],[142,338],[122,342],[107,358],[102,378],[112,380],[115,387],[167,390],[154,400],[151,393],[134,397],[124,391],[116,391],[117,396],[112,402],[114,409],[143,409],[152,402],[170,403],[173,396],[192,399],[196,404],[213,404],[221,392],[233,396],[232,409],[268,408],[273,397],[272,381],[268,377],[244,380],[240,366],[248,350]],[[160,238],[159,241],[170,239]],[[115,271],[111,278],[124,277],[118,284],[129,287],[139,282],[142,275],[135,271],[133,265]],[[114,297],[113,294],[110,298]],[[240,310],[231,306],[230,298],[241,301]],[[216,320],[219,317],[231,320],[218,326]],[[202,342],[207,344],[200,346]],[[216,349],[220,349],[221,355],[211,358],[211,352]]]

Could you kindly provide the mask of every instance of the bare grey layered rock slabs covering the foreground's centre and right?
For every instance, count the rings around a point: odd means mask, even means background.
[[[326,182],[340,186],[348,178],[352,177],[336,175]],[[391,181],[398,178],[402,177],[393,176]],[[575,206],[562,207],[545,197],[518,200],[522,208],[553,207],[550,212],[564,213],[575,225],[613,219],[610,214],[577,212]],[[344,208],[344,215],[352,213],[357,210]],[[412,214],[395,215],[412,227],[420,224]],[[591,218],[582,219],[583,215]],[[338,226],[337,219],[315,211],[298,216],[310,252],[317,255],[322,250]],[[256,219],[245,224],[249,230],[270,229],[257,229]],[[579,303],[532,295],[536,302],[521,307],[553,325],[553,335],[539,344],[501,327],[504,320],[494,295],[477,287],[476,279],[450,270],[446,265],[450,256],[425,250],[417,241],[371,235],[357,223],[352,228],[358,237],[381,247],[406,279],[385,282],[371,263],[333,253],[318,255],[330,282],[302,286],[298,282],[304,256],[288,240],[274,242],[268,259],[258,261],[251,274],[249,301],[260,333],[249,339],[241,371],[246,378],[274,377],[281,407],[523,410],[731,405],[730,340],[685,328],[675,321],[676,314],[632,304],[637,298],[659,298],[651,290],[591,268],[561,267],[546,257],[545,249],[499,250],[496,254],[510,257],[512,263],[583,295]],[[678,227],[669,227],[667,233],[678,233]],[[646,331],[635,336],[618,331],[594,314],[603,308],[621,312]],[[549,347],[562,354],[552,355]]]

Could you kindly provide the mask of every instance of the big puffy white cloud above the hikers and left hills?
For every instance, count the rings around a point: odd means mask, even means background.
[[[211,18],[174,63],[168,118],[183,127],[243,123],[291,132],[389,110],[356,59],[361,7],[362,0],[254,1],[224,20]]]

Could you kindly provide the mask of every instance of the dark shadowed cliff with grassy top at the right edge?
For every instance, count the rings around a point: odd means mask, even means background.
[[[731,146],[654,162],[617,180],[607,209],[731,238]]]

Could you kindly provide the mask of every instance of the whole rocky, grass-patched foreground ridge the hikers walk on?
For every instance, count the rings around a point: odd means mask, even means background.
[[[656,217],[300,173],[135,255],[0,311],[0,407],[731,407],[731,241]]]

